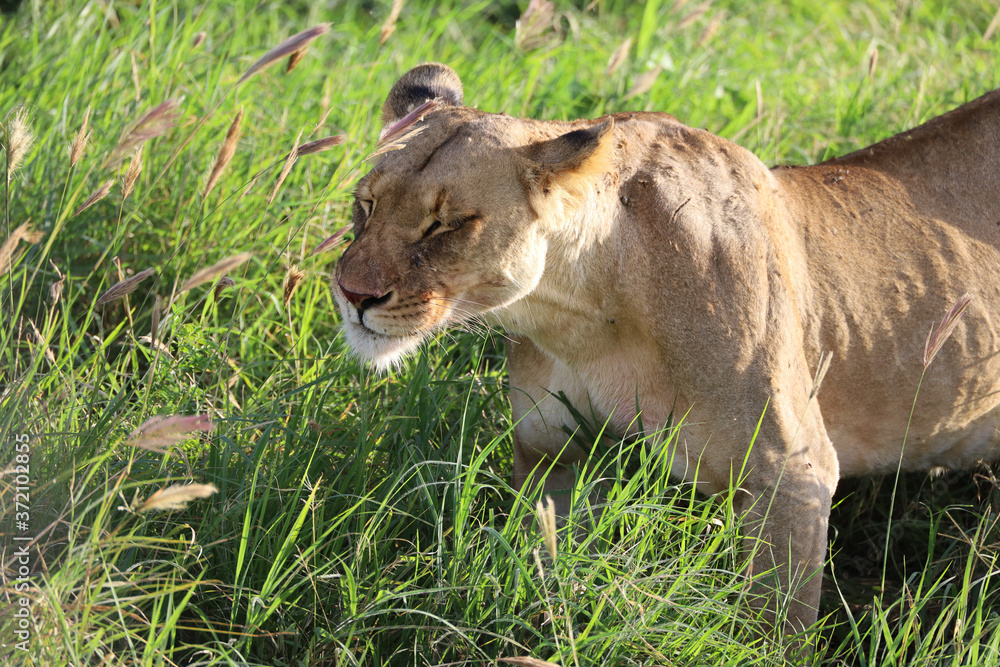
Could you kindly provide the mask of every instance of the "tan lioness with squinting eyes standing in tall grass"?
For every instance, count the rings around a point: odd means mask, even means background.
[[[470,318],[509,333],[515,486],[551,467],[544,488],[569,488],[587,456],[554,394],[620,436],[637,407],[647,430],[686,415],[673,474],[706,493],[742,475],[750,572],[798,632],[841,476],[995,458],[1000,91],[775,169],[664,113],[524,120],[462,95],[435,63],[392,88],[387,124],[441,106],[358,183],[334,294],[351,347],[382,367]],[[904,446],[928,332],[967,291]]]

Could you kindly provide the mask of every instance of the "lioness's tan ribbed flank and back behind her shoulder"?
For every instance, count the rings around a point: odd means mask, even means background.
[[[834,355],[819,400],[845,475],[895,468],[915,396],[904,467],[997,457],[1000,95],[968,106],[845,158],[773,172],[808,266],[805,348]],[[967,292],[918,393],[928,333]]]

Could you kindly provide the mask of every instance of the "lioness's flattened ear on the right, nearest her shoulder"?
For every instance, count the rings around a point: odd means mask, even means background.
[[[528,180],[543,193],[551,185],[573,192],[585,187],[591,176],[611,168],[615,122],[608,118],[600,125],[573,130],[525,148],[531,168]]]

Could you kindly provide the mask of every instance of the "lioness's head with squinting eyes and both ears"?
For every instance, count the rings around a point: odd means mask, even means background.
[[[335,273],[348,343],[379,367],[530,293],[545,271],[548,212],[610,155],[610,120],[537,123],[463,107],[458,76],[436,63],[396,83],[383,120],[429,99],[441,105],[422,131],[358,183],[354,242]]]

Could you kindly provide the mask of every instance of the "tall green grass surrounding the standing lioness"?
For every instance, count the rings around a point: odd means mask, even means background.
[[[582,520],[589,492],[602,489],[596,528],[583,538],[562,527],[551,553],[521,529],[536,521],[537,499],[509,485],[502,335],[442,335],[400,373],[374,374],[339,338],[328,286],[338,253],[310,252],[349,222],[381,102],[424,60],[455,67],[467,102],[486,110],[664,110],[768,163],[805,163],[1000,85],[998,38],[983,38],[995,7],[560,3],[551,27],[525,42],[523,3],[409,3],[380,44],[390,4],[25,0],[2,17],[0,122],[23,110],[35,141],[4,190],[0,238],[22,223],[40,238],[20,241],[0,275],[10,605],[0,659],[781,663],[742,611],[738,522],[725,499],[668,484],[642,443],[611,442],[608,466],[582,471],[574,491]],[[283,39],[327,22],[294,70],[279,63],[237,84]],[[628,58],[608,73],[626,38]],[[629,96],[656,68],[654,85]],[[144,145],[123,198],[129,159],[106,158],[167,100],[178,100],[178,122]],[[71,167],[88,108],[90,143]],[[204,196],[241,109],[234,158]],[[336,134],[343,145],[300,157],[275,190],[296,143]],[[224,280],[181,291],[241,253],[251,258]],[[126,298],[96,305],[147,268],[155,275]],[[303,277],[288,294],[295,271]],[[196,414],[212,419],[210,435],[165,452],[130,444],[151,417]],[[26,530],[12,474],[22,434]],[[140,511],[155,491],[190,483],[218,491],[184,510]],[[892,486],[843,487],[816,662],[1000,662],[992,472]],[[16,578],[24,542],[14,541],[24,536],[35,538],[27,595]],[[22,598],[27,651],[14,634]]]

